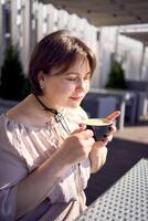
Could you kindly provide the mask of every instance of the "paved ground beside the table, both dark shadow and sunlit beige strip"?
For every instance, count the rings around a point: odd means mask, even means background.
[[[86,188],[87,204],[115,183],[138,160],[148,158],[148,124],[125,127],[108,145],[105,166],[93,175]]]

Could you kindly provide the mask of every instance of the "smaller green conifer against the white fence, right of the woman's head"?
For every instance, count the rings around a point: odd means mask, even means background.
[[[107,88],[126,88],[125,71],[123,62],[113,61],[112,70],[106,83]]]

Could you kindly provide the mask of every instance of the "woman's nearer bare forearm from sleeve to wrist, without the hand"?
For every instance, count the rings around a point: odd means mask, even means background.
[[[40,204],[61,181],[71,164],[59,150],[18,185],[17,218]]]

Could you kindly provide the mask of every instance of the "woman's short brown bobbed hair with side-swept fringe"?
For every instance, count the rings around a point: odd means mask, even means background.
[[[91,74],[93,75],[96,67],[96,57],[84,42],[72,35],[67,30],[60,30],[44,36],[36,44],[30,60],[29,78],[32,93],[42,94],[38,82],[40,71],[50,74],[53,67],[60,66],[65,71],[75,61],[77,54],[88,59]]]

